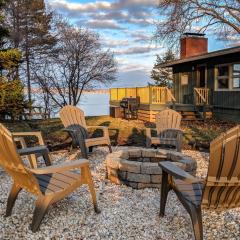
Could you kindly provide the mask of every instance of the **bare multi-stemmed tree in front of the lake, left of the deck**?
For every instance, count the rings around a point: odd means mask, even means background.
[[[35,77],[57,106],[77,105],[83,90],[115,80],[113,55],[102,50],[97,34],[63,20],[56,24],[56,34],[57,54],[35,69]]]

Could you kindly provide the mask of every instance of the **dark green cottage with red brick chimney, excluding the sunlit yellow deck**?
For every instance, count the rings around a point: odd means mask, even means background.
[[[204,34],[186,33],[180,39],[180,59],[171,67],[177,109],[195,107],[214,117],[240,121],[240,46],[208,52]],[[198,107],[197,107],[198,106]]]

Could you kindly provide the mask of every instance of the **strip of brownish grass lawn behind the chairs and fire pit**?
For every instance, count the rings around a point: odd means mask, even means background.
[[[45,141],[50,146],[63,142],[70,143],[68,134],[64,131],[60,119],[32,120],[16,123],[5,123],[11,131],[42,131]],[[154,124],[144,123],[138,120],[123,120],[109,116],[87,117],[88,125],[100,125],[109,127],[109,135],[112,145],[145,145],[145,128],[154,127]],[[209,148],[211,140],[219,134],[233,127],[236,123],[223,122],[219,120],[208,120],[206,123],[192,122],[182,125],[184,131],[184,149]],[[96,132],[94,134],[101,134]]]

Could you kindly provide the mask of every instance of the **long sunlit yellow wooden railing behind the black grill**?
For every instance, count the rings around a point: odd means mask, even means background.
[[[165,104],[176,102],[172,92],[167,87],[137,87],[137,88],[112,88],[110,100],[121,101],[124,97],[140,97],[140,103]]]

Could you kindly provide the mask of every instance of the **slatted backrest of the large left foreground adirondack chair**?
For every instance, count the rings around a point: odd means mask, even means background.
[[[0,124],[0,165],[23,189],[40,194],[36,178],[24,167],[12,134],[2,124]]]

